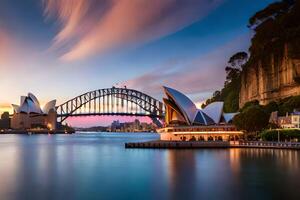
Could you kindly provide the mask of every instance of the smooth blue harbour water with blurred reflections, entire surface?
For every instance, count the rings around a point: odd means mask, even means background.
[[[157,138],[0,135],[0,199],[300,199],[300,151],[124,148]]]

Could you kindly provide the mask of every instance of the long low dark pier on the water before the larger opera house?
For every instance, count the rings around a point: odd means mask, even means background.
[[[201,148],[263,148],[300,150],[299,142],[254,142],[254,141],[150,141],[125,143],[125,148],[149,149],[201,149]]]

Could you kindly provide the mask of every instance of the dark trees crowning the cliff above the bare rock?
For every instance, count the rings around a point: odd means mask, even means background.
[[[251,17],[249,25],[255,26],[255,35],[249,48],[251,56],[246,66],[257,67],[259,63],[265,69],[272,63],[279,66],[285,50],[290,58],[299,58],[299,19],[299,0],[275,2]]]

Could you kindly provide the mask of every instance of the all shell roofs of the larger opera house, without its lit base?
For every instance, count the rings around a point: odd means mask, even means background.
[[[188,125],[212,125],[222,122],[229,123],[237,114],[223,113],[223,102],[213,102],[200,110],[197,109],[196,105],[181,92],[169,87],[164,87],[164,91],[168,97],[168,101],[175,104],[179,109],[176,110],[176,113],[182,113],[185,122]],[[174,107],[172,107],[172,109],[174,109]]]

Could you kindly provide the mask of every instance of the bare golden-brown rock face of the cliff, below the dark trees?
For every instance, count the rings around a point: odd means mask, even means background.
[[[291,58],[288,51],[289,46],[285,45],[283,56],[270,55],[267,66],[264,61],[258,60],[242,71],[240,107],[248,101],[258,100],[267,104],[300,95],[300,59]]]

